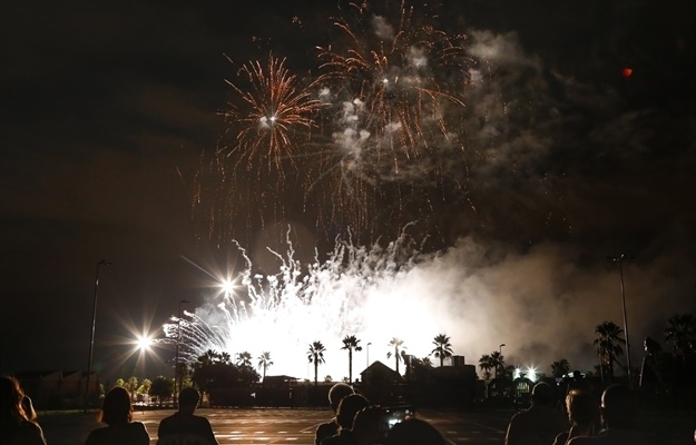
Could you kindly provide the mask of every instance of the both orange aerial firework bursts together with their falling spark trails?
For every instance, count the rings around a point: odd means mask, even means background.
[[[331,237],[351,227],[373,241],[467,189],[464,36],[439,29],[428,7],[384,8],[351,3],[330,22],[340,36],[317,47],[315,78],[271,55],[228,82],[232,141],[202,168],[199,181],[217,186],[195,204],[210,207],[198,212],[215,219],[209,234],[228,240],[239,217],[252,231],[302,208]]]

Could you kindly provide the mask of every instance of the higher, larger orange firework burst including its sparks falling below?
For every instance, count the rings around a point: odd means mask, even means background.
[[[462,191],[467,171],[464,36],[438,29],[424,7],[380,7],[350,3],[333,19],[341,37],[318,47],[331,149],[307,190],[308,201],[332,202],[327,225],[367,234],[432,214],[443,188]]]

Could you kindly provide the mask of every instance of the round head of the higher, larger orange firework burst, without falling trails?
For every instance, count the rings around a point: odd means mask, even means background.
[[[430,17],[402,2],[399,26],[393,30],[385,17],[367,3],[353,7],[350,18],[335,24],[349,38],[320,48],[323,81],[337,96],[359,100],[364,109],[364,131],[386,149],[394,174],[449,140],[445,103],[462,108],[470,60],[459,34],[435,29]],[[420,11],[419,11],[420,12]],[[351,20],[352,19],[352,20]]]

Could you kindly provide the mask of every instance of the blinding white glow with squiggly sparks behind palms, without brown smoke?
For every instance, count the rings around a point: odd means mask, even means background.
[[[267,275],[252,271],[245,258],[248,264],[236,280],[234,298],[214,297],[195,313],[184,313],[180,359],[195,362],[208,349],[248,352],[253,357],[267,350],[272,373],[313,379],[306,350],[321,340],[326,352],[318,378],[331,375],[340,380],[347,376],[349,357],[341,349],[346,335],[355,335],[363,347],[353,355],[355,369],[367,359],[367,343],[370,362],[395,368],[394,357],[386,357],[393,337],[404,340],[405,354],[425,357],[432,337],[422,333],[434,336],[442,330],[441,309],[423,298],[428,290],[422,277],[412,274],[418,255],[396,259],[409,249],[400,243],[375,251],[340,244],[326,261],[301,265],[292,258],[291,246],[288,257],[278,255],[281,270]],[[224,279],[216,281],[223,294]],[[173,318],[164,326],[166,336],[176,338],[177,328]],[[400,372],[405,372],[403,362]]]

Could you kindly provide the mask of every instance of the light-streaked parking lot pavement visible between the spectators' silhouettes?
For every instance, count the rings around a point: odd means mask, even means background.
[[[150,434],[150,444],[157,442],[159,422],[173,409],[138,411],[134,421],[143,422]],[[202,408],[220,445],[293,444],[313,445],[316,426],[332,417],[329,409],[213,409]],[[481,409],[473,412],[420,411],[419,417],[432,423],[451,445],[502,444],[510,417],[514,411]],[[41,415],[48,445],[84,444],[94,428],[101,426],[96,413]],[[640,429],[655,445],[693,444],[696,419],[694,415],[648,413],[641,418]]]

